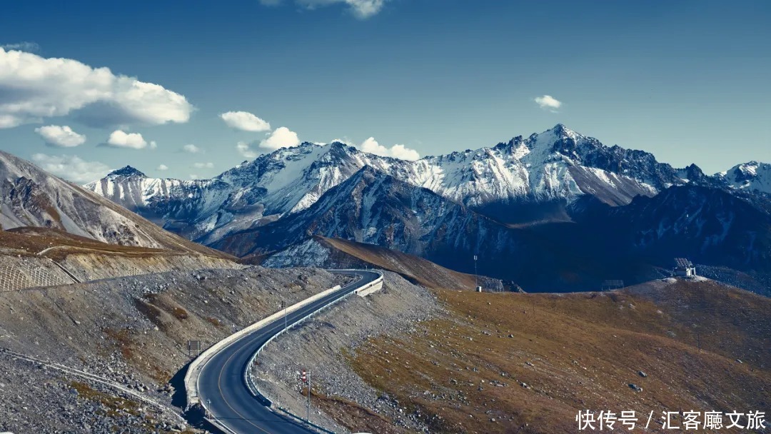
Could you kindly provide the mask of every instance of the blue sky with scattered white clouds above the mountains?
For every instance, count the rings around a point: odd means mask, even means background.
[[[706,173],[771,163],[771,2],[4,2],[0,150],[86,183],[299,141],[415,159],[557,123]]]

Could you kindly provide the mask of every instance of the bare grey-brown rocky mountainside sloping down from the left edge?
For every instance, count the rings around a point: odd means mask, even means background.
[[[49,227],[109,244],[221,256],[89,190],[0,151],[0,227]]]

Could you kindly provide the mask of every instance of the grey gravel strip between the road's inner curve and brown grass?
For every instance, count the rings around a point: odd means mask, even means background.
[[[311,422],[335,432],[426,432],[412,412],[352,371],[352,351],[379,335],[409,335],[443,309],[426,288],[385,272],[381,291],[351,296],[273,341],[258,358],[258,387],[305,416],[303,369],[311,372]]]

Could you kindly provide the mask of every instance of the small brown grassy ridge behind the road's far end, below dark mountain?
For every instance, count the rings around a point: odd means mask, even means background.
[[[393,251],[372,244],[356,243],[340,238],[317,237],[322,243],[348,254],[375,267],[402,274],[411,281],[416,281],[426,288],[472,289],[474,277],[441,267],[431,261]]]

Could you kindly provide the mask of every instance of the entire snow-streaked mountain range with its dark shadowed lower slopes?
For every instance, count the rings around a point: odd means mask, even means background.
[[[270,257],[321,235],[465,272],[477,255],[480,272],[543,290],[639,280],[674,256],[769,271],[769,186],[768,164],[706,175],[558,124],[416,161],[301,143],[210,180],[150,178],[124,167],[85,187],[242,257]],[[553,272],[531,275],[537,267]]]

